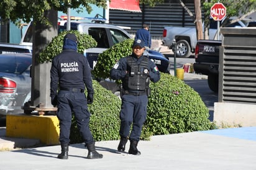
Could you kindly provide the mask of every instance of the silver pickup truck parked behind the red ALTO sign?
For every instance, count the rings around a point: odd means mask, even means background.
[[[234,18],[230,18],[229,20],[232,19]],[[226,23],[229,23],[229,20]],[[232,24],[226,24],[224,27],[247,27],[250,21],[249,19],[239,20]],[[217,21],[210,19],[209,40],[214,40],[216,33]],[[196,27],[164,27],[162,45],[172,49],[174,39],[176,40],[176,56],[189,57],[191,53],[194,53],[196,48]]]

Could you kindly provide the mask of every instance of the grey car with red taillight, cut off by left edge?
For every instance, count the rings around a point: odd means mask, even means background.
[[[32,53],[0,55],[0,117],[22,113],[21,106],[30,100]]]

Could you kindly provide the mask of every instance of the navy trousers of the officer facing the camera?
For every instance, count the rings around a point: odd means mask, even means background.
[[[130,133],[130,140],[139,141],[142,126],[147,118],[147,94],[141,96],[123,95],[120,112],[121,126],[119,135],[127,137]],[[130,132],[132,125],[132,132]]]

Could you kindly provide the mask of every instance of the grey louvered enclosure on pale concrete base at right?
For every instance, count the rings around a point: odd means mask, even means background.
[[[221,34],[213,120],[224,127],[256,126],[256,29],[222,28]]]

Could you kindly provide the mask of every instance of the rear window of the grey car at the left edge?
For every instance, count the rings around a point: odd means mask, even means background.
[[[0,57],[0,72],[22,74],[31,65],[31,58],[26,57]]]

